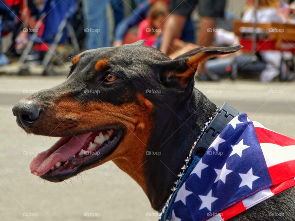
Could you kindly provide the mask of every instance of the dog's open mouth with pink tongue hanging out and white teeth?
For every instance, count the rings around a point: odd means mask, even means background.
[[[33,159],[31,173],[53,182],[65,180],[111,153],[122,135],[122,130],[109,129],[62,137]]]

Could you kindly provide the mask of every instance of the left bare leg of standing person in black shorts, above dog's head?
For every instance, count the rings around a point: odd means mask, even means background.
[[[160,50],[165,54],[172,53],[171,45],[176,37],[180,36],[186,17],[178,14],[167,16],[164,24],[162,42]]]

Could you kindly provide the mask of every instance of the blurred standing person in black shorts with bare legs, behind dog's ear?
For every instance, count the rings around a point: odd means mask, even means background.
[[[165,54],[171,53],[173,40],[180,36],[185,21],[191,16],[196,5],[199,7],[199,15],[201,17],[198,30],[198,45],[204,47],[212,46],[214,36],[208,30],[215,28],[215,19],[217,17],[224,17],[226,0],[171,0],[169,3],[171,14],[169,14],[165,21],[160,47],[162,52]],[[217,75],[206,74],[204,72],[204,65],[200,65],[198,68],[198,77],[201,80],[219,79]]]

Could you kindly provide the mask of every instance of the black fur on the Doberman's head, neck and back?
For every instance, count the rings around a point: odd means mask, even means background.
[[[136,93],[141,93],[153,104],[153,130],[147,150],[161,152],[161,155],[145,155],[145,177],[147,195],[151,206],[158,210],[171,193],[170,188],[181,171],[184,159],[191,145],[201,132],[203,124],[212,116],[216,105],[194,87],[194,72],[191,70],[185,84],[177,75],[189,70],[187,60],[198,53],[209,55],[235,52],[241,47],[197,48],[171,60],[159,50],[144,46],[144,41],[112,48],[98,48],[81,53],[64,83],[48,90],[37,92],[27,100],[33,100],[43,110],[48,101],[57,97],[71,97],[81,103],[91,101],[110,102],[115,105],[134,102]],[[103,71],[94,69],[102,58],[109,66]],[[105,83],[106,73],[113,73],[118,80]],[[99,94],[85,94],[84,91],[99,90]],[[159,94],[146,93],[159,90]],[[21,104],[18,104],[18,106]],[[89,131],[81,131],[86,133]],[[38,134],[38,132],[33,132]],[[72,134],[60,136],[71,136]],[[46,135],[46,134],[42,134]],[[53,136],[53,135],[52,135]],[[136,150],[132,150],[136,151]],[[294,220],[294,188],[264,201],[233,218],[244,220]],[[284,216],[270,216],[269,213],[284,213]]]

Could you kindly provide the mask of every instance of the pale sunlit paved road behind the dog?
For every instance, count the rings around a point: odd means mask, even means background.
[[[47,149],[56,138],[25,134],[16,125],[11,108],[29,93],[52,87],[64,79],[65,76],[0,76],[1,220],[156,220],[156,213],[141,188],[112,162],[60,184],[44,182],[30,174],[33,153]],[[294,86],[294,83],[230,80],[196,83],[216,104],[226,101],[246,112],[250,119],[292,138],[295,138]],[[32,154],[24,154],[27,152]],[[85,217],[85,213],[91,216]]]

